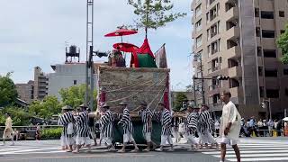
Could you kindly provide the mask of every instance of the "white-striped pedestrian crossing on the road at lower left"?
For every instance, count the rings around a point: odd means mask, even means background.
[[[59,147],[55,146],[1,146],[1,155],[25,155],[25,154],[54,154],[62,153],[63,150],[59,150]]]

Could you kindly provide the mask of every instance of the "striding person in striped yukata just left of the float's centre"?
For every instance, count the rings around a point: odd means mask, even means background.
[[[118,122],[123,127],[123,147],[118,152],[125,152],[125,148],[127,146],[128,142],[132,142],[134,145],[134,149],[132,152],[139,151],[139,148],[137,147],[137,144],[135,142],[135,139],[133,138],[133,125],[130,118],[130,112],[127,108],[126,102],[119,103],[121,106],[121,110],[123,111],[123,114],[121,115],[121,120]]]

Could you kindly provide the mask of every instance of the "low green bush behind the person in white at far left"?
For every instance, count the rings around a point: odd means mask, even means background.
[[[29,125],[32,114],[25,111],[23,108],[8,106],[0,112],[0,125],[4,125],[6,119],[4,114],[9,112],[13,120],[14,126]]]

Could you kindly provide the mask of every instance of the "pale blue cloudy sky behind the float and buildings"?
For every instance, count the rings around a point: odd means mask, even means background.
[[[187,16],[148,32],[153,52],[166,43],[174,89],[184,89],[191,84],[193,70],[188,57],[192,47],[191,1],[172,0],[175,12]],[[85,0],[1,0],[0,75],[14,71],[14,82],[26,83],[33,79],[35,66],[46,73],[52,72],[50,65],[65,62],[67,44],[80,47],[81,60],[85,61],[85,9]],[[121,24],[131,23],[133,18],[127,0],[95,0],[94,49],[111,50],[112,44],[121,39],[103,35]],[[143,31],[123,40],[140,46],[144,40]]]

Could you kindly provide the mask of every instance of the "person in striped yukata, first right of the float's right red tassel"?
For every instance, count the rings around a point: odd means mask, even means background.
[[[198,124],[198,113],[194,110],[197,109],[193,103],[189,103],[187,110],[186,110],[186,120],[185,130],[186,130],[186,138],[188,142],[191,143],[191,148],[189,151],[194,151],[199,148],[197,141],[195,140],[195,132],[197,131],[197,124]]]

